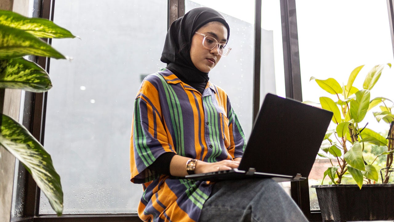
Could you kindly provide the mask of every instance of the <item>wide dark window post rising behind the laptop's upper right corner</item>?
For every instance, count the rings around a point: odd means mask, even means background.
[[[286,97],[302,101],[296,0],[281,0],[281,20]]]

